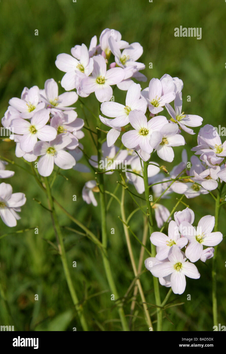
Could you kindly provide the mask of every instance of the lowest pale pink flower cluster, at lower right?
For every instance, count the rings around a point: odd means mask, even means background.
[[[175,294],[184,292],[185,276],[200,278],[194,262],[212,258],[213,246],[223,238],[221,232],[212,232],[214,216],[202,217],[197,227],[192,226],[194,218],[194,212],[189,208],[175,212],[175,221],[169,222],[168,236],[161,232],[153,232],[150,236],[151,243],[157,246],[157,254],[145,259],[145,267],[159,278],[161,285],[171,286]],[[203,249],[203,246],[210,247]]]

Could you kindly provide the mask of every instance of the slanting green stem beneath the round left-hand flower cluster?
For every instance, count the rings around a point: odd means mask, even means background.
[[[57,217],[57,214],[55,212],[54,202],[53,202],[53,197],[52,197],[50,186],[49,186],[48,177],[44,177],[44,180],[45,180],[45,184],[46,184],[46,193],[47,193],[47,196],[48,196],[49,205],[50,205],[50,208],[51,208],[51,211],[52,211],[53,222],[54,222],[55,230],[56,230],[58,241],[59,241],[59,245],[58,245],[59,253],[60,253],[61,261],[62,261],[62,264],[63,264],[64,274],[65,274],[65,278],[66,278],[66,281],[67,281],[67,285],[69,287],[69,291],[70,291],[70,294],[71,294],[71,297],[72,297],[73,304],[75,305],[75,308],[77,310],[79,319],[81,321],[82,328],[83,328],[84,331],[88,331],[87,322],[86,322],[84,314],[83,314],[83,308],[82,308],[82,305],[79,304],[78,297],[77,297],[77,294],[76,294],[76,291],[75,291],[75,288],[73,286],[73,282],[72,282],[72,279],[71,279],[69,267],[68,267],[68,264],[67,264],[67,258],[66,258],[66,252],[65,252],[65,247],[64,247],[63,235],[61,233],[60,225],[59,225],[59,222],[58,222],[58,217]]]

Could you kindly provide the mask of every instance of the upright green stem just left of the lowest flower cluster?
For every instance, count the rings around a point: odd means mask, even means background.
[[[148,185],[148,162],[144,161],[144,167],[143,167],[143,176],[144,176],[144,192],[145,192],[145,199],[147,203],[147,208],[148,208],[148,214],[149,214],[149,234],[151,234],[154,231],[154,218],[153,218],[153,212],[152,212],[152,207],[149,201],[149,185]],[[155,257],[156,255],[156,248],[155,246],[151,243],[151,255],[152,257]],[[154,293],[155,293],[155,303],[157,306],[161,306],[161,298],[160,298],[160,291],[159,291],[159,279],[153,276],[153,284],[154,284]],[[161,308],[157,308],[157,331],[162,331],[162,312]]]

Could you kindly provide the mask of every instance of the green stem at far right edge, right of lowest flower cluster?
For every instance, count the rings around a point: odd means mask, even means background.
[[[219,225],[219,210],[220,210],[220,198],[221,192],[224,187],[224,182],[221,183],[218,195],[215,201],[215,225],[214,232],[218,231]],[[213,264],[212,264],[212,302],[213,302],[213,324],[214,326],[218,326],[218,305],[217,305],[217,297],[216,297],[216,251],[218,246],[214,247],[214,256],[213,256]]]

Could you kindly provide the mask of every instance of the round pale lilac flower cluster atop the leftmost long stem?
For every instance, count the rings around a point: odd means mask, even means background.
[[[74,107],[68,107],[77,99],[76,92],[58,95],[57,82],[49,79],[44,90],[25,87],[21,98],[9,101],[2,125],[13,133],[10,138],[16,142],[17,157],[29,162],[38,159],[41,176],[49,176],[54,163],[61,169],[71,169],[76,164],[65,149],[76,149],[84,136],[83,119],[77,118]]]

